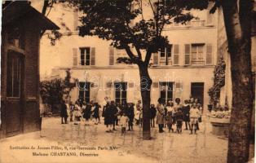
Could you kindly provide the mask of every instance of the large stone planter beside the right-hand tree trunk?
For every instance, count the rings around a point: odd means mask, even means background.
[[[213,127],[213,134],[228,137],[228,130],[230,125],[229,118],[210,117],[210,123]]]

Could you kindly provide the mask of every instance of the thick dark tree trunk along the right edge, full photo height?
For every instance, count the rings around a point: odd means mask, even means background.
[[[254,101],[251,73],[251,1],[222,1],[231,58],[232,113],[228,138],[227,162],[249,159],[249,131]]]

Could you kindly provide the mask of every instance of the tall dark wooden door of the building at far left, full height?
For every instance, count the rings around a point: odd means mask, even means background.
[[[7,136],[20,133],[22,130],[22,101],[24,88],[24,59],[15,51],[7,53]]]

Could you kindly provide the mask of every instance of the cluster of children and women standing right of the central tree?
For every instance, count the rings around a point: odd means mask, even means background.
[[[158,99],[157,104],[157,124],[159,132],[164,132],[163,128],[168,127],[174,132],[173,126],[176,125],[177,133],[182,133],[183,122],[185,122],[186,129],[194,131],[199,130],[199,122],[201,122],[202,107],[198,99],[184,100],[184,104],[180,103],[180,99],[175,99],[174,102],[168,101],[167,104],[162,99]],[[151,110],[155,110],[154,105],[151,105]],[[154,117],[152,117],[152,120]]]

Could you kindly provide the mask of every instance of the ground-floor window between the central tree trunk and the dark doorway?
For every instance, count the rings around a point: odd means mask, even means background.
[[[173,82],[160,82],[160,98],[166,103],[173,99]]]

